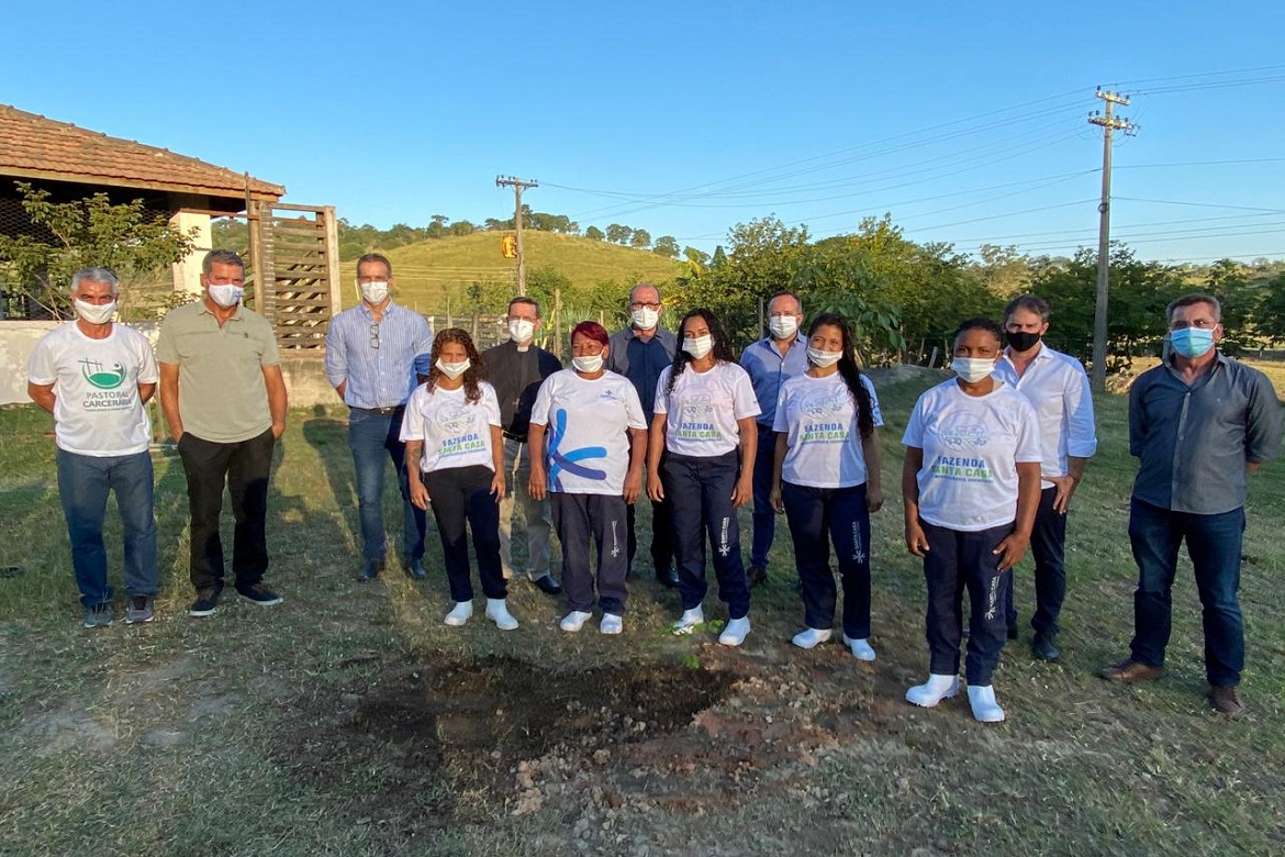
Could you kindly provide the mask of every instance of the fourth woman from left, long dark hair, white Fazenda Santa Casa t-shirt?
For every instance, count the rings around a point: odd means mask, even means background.
[[[830,543],[843,581],[843,642],[858,660],[870,648],[870,513],[883,506],[879,400],[857,369],[852,330],[840,315],[812,321],[808,367],[781,384],[776,401],[776,457],[771,502],[784,511],[807,627],[794,645],[830,639],[837,590]]]

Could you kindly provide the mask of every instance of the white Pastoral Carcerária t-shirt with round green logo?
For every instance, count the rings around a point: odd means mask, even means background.
[[[107,339],[91,339],[68,321],[45,334],[27,361],[27,380],[54,385],[58,448],[94,457],[146,452],[152,420],[139,384],[157,378],[152,344],[122,324]]]

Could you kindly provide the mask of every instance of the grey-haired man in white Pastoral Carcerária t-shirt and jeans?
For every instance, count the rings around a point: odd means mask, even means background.
[[[76,271],[77,319],[45,334],[27,364],[27,393],[54,415],[58,495],[86,628],[112,623],[103,545],[112,491],[125,536],[125,621],[150,622],[158,591],[152,423],[144,407],[157,388],[157,361],[143,334],[112,322],[118,290],[107,269]]]

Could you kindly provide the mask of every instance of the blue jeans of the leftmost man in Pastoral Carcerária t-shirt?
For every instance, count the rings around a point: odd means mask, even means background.
[[[95,457],[58,450],[58,493],[72,543],[72,568],[81,604],[111,604],[103,520],[107,495],[116,492],[125,535],[125,591],[155,597],[157,524],[152,514],[152,456],[146,452]]]

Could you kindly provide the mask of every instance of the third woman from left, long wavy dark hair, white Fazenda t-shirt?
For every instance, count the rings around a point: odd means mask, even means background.
[[[648,493],[669,499],[673,556],[678,567],[682,617],[675,633],[704,623],[705,532],[727,604],[718,636],[739,646],[749,633],[749,585],[740,559],[736,509],[753,496],[759,414],[749,374],[736,364],[722,325],[709,310],[693,310],[678,325],[681,347],[655,388],[655,416],[648,439]],[[664,454],[662,456],[662,452]],[[662,460],[663,459],[663,460]]]

